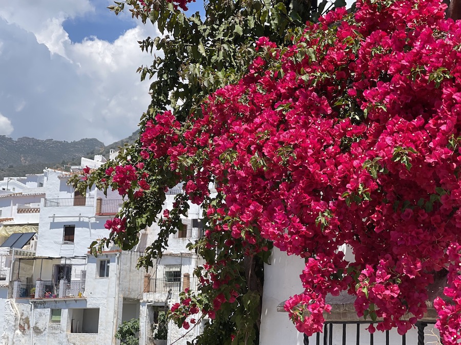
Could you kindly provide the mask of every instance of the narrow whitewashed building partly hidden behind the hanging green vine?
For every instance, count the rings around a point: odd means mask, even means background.
[[[175,196],[182,192],[182,186],[178,185],[169,190],[163,209],[172,209]],[[178,328],[173,322],[167,324],[166,339],[157,339],[159,314],[179,302],[179,293],[184,289],[195,290],[197,280],[194,277],[194,269],[203,264],[203,261],[195,253],[186,249],[186,245],[194,242],[202,236],[202,224],[200,221],[200,207],[190,204],[190,209],[182,223],[184,229],[170,235],[168,248],[163,256],[154,263],[151,271],[144,275],[144,292],[140,308],[140,334],[139,345],[185,345],[192,341],[203,331],[203,325],[197,325],[192,330]],[[158,226],[142,231],[141,243],[151,243],[158,234]],[[205,321],[206,322],[206,321]]]

